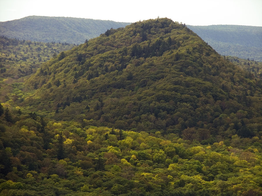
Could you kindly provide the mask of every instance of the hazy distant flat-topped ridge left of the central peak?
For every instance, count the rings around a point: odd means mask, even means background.
[[[28,16],[0,22],[0,35],[37,42],[67,42],[82,44],[107,29],[130,23],[72,17]]]

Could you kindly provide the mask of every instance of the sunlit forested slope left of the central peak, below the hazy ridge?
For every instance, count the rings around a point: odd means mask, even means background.
[[[0,102],[8,101],[15,86],[23,81],[43,62],[61,51],[72,49],[75,44],[44,43],[0,37]]]

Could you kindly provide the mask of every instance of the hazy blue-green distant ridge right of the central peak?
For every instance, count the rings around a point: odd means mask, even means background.
[[[191,26],[221,55],[262,61],[262,27],[240,25]]]

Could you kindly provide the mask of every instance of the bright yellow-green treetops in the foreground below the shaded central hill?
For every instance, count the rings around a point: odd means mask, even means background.
[[[1,195],[262,195],[258,137],[201,145],[174,134],[19,119],[0,125]]]

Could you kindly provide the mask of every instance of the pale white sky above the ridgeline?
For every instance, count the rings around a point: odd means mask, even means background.
[[[187,25],[262,26],[262,0],[0,0],[0,21],[31,15],[118,22],[159,16]]]

